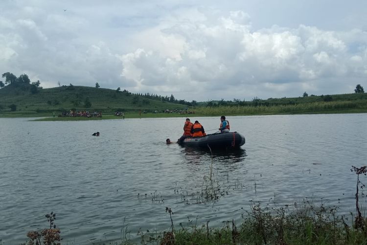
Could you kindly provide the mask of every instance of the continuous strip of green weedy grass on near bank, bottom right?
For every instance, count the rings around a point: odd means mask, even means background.
[[[167,208],[166,208],[167,209]],[[152,245],[357,245],[367,244],[367,230],[357,229],[337,207],[317,206],[305,198],[300,203],[277,207],[275,203],[251,203],[240,224],[226,221],[222,227],[210,227],[209,221],[190,220],[173,229],[173,212],[168,232],[138,233],[140,244]],[[123,240],[116,244],[139,244]]]

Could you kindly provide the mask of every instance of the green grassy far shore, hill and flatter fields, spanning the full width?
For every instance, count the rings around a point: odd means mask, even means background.
[[[266,100],[255,97],[252,101],[222,99],[198,104],[200,106],[189,107],[189,111],[195,111],[197,116],[361,113],[367,112],[367,93]],[[23,83],[10,84],[0,89],[0,117],[51,116],[53,112],[58,115],[70,110],[102,112],[103,115],[112,115],[120,111],[130,114],[129,117],[139,116],[138,112],[141,110],[144,117],[165,117],[180,115],[153,112],[184,110],[186,107],[184,104],[132,95],[127,91],[94,87],[71,85],[49,89],[38,88],[38,92],[35,93],[31,85]]]

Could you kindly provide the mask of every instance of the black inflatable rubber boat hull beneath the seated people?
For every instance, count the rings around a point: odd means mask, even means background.
[[[203,137],[187,137],[179,144],[184,147],[239,148],[245,137],[237,132],[208,134]]]

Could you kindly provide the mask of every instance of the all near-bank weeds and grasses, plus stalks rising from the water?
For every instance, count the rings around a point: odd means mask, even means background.
[[[352,166],[351,172],[357,174],[356,185],[356,215],[339,216],[338,208],[315,205],[313,200],[304,198],[300,203],[278,207],[275,202],[263,205],[251,203],[251,209],[242,214],[242,223],[236,225],[234,220],[226,221],[220,228],[209,226],[209,221],[198,225],[197,220],[188,220],[187,225],[180,223],[180,227],[174,226],[174,212],[166,207],[169,214],[170,228],[168,231],[143,232],[138,231],[139,242],[136,236],[131,235],[128,227],[121,229],[121,240],[115,245],[153,244],[153,245],[359,245],[367,244],[367,219],[362,216],[359,204],[360,190],[364,185],[360,180],[366,175],[367,167],[357,168]],[[203,195],[207,201],[215,200],[218,191],[212,169],[210,174],[204,177],[205,184]],[[41,232],[30,231],[27,245],[34,244],[61,244],[61,231],[54,223],[56,214],[46,214],[49,228]]]

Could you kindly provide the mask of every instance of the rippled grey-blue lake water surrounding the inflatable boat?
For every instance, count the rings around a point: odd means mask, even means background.
[[[209,226],[241,222],[250,200],[278,206],[304,197],[355,212],[356,174],[366,165],[367,114],[228,117],[246,137],[237,151],[166,145],[184,118],[80,122],[0,119],[0,244],[20,244],[56,213],[63,243],[134,239],[188,218]],[[215,132],[219,117],[196,118]],[[93,132],[99,131],[99,137]],[[208,178],[220,186],[207,200]],[[363,181],[363,177],[362,177]],[[365,181],[366,182],[366,181]]]

